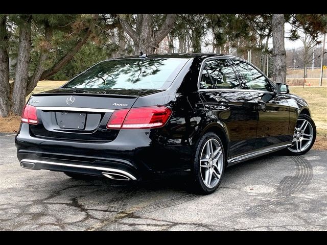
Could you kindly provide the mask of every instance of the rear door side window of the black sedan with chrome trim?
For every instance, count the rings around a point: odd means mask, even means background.
[[[241,89],[237,75],[227,59],[210,60],[205,63],[200,88],[209,84],[206,77],[211,79],[214,88]]]

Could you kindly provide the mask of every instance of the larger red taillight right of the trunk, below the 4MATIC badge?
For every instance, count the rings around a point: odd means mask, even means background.
[[[115,110],[107,123],[107,129],[151,129],[166,124],[171,109],[165,106],[148,106]]]

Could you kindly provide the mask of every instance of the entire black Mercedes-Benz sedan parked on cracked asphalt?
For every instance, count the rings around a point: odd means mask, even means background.
[[[212,193],[226,166],[283,150],[308,152],[316,127],[286,84],[228,55],[166,54],[102,61],[33,94],[15,138],[20,165],[86,179],[190,174]]]

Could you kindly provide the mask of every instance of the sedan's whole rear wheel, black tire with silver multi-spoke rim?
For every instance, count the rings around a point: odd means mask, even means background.
[[[208,161],[205,161],[206,159]],[[192,190],[200,194],[213,193],[221,183],[225,163],[226,156],[222,141],[213,132],[205,133],[196,145],[192,166]]]

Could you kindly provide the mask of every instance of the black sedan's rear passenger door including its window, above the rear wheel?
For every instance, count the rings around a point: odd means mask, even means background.
[[[202,64],[199,92],[206,106],[224,124],[229,137],[229,154],[251,151],[256,138],[256,107],[227,58],[212,58]]]

